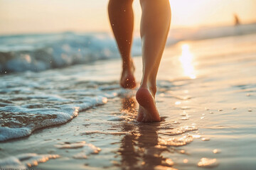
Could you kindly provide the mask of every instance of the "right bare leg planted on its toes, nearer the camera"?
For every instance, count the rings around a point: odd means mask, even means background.
[[[139,122],[160,121],[156,108],[156,74],[164,51],[171,22],[169,0],[141,0],[143,77],[137,91]]]

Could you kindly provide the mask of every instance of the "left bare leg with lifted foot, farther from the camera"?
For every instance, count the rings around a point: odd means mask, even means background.
[[[134,64],[131,57],[132,33],[134,28],[133,0],[110,0],[108,12],[110,24],[122,56],[120,85],[132,89],[136,86]]]

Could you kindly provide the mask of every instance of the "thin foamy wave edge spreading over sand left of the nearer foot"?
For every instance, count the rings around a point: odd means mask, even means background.
[[[83,91],[87,91],[87,89]],[[78,91],[76,96],[83,91]],[[0,98],[0,142],[29,136],[34,130],[41,128],[67,123],[78,116],[81,111],[103,105],[107,103],[107,98],[114,98],[124,92],[124,89],[105,90],[104,92],[95,89],[91,91],[90,96],[85,96],[79,100],[61,98],[58,95],[52,96],[50,94],[33,95],[29,99],[25,97],[18,98],[17,100],[20,100],[20,103],[23,102],[21,106],[18,106],[15,98],[9,103]],[[92,94],[97,95],[92,96]],[[29,103],[29,101],[37,100],[40,103]],[[49,102],[56,105],[48,106]]]

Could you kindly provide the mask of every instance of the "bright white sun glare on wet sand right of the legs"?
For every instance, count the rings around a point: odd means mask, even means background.
[[[183,44],[181,45],[181,57],[179,60],[181,62],[181,66],[183,68],[184,75],[190,77],[191,79],[196,79],[195,70],[193,67],[193,55],[189,50],[189,45]]]

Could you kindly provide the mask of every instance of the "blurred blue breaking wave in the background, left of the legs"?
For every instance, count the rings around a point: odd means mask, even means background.
[[[39,72],[119,57],[107,33],[9,35],[0,38],[0,72]],[[139,55],[136,50],[133,55]]]

